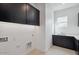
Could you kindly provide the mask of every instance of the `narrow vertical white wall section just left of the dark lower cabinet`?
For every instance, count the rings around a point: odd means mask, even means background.
[[[46,39],[46,50],[52,46],[52,28],[53,25],[53,9],[52,5],[46,4],[46,21],[45,21],[45,39]]]

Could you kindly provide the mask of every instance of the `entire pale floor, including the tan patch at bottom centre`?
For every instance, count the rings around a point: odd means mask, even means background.
[[[74,50],[53,46],[46,53],[35,49],[30,55],[76,55],[76,52]]]

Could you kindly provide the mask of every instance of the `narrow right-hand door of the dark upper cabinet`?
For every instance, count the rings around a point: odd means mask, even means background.
[[[26,4],[26,6],[26,23],[30,25],[39,25],[39,11],[30,4]]]

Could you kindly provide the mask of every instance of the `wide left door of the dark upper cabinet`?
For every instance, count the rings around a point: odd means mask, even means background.
[[[0,21],[26,24],[23,3],[0,4]]]

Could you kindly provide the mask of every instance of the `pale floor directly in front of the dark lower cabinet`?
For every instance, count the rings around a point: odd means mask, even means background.
[[[47,55],[76,55],[76,52],[74,50],[53,46],[49,49],[49,51],[46,53]]]

